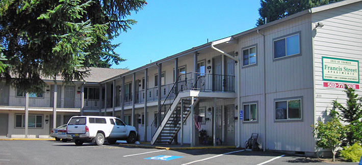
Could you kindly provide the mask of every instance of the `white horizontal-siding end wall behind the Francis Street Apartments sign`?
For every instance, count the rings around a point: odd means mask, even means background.
[[[345,104],[347,98],[344,89],[323,87],[322,56],[359,60],[359,76],[362,75],[362,3],[315,13],[312,21],[324,24],[314,30],[315,94],[318,95],[315,105],[316,122],[326,119],[333,100],[337,99]],[[359,79],[361,78],[360,76]],[[359,86],[361,87],[361,82]],[[362,95],[361,90],[356,90],[356,93]]]

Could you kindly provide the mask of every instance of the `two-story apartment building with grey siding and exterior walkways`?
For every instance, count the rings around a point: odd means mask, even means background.
[[[311,125],[326,119],[332,100],[344,103],[345,84],[362,94],[361,20],[361,0],[305,10],[87,87],[78,85],[85,101],[72,114],[118,116],[151,144],[193,146],[200,143],[197,131],[204,129],[214,145],[244,147],[256,133],[265,150],[314,154],[320,150]],[[47,90],[51,93],[51,85]],[[1,95],[2,103],[6,98]],[[16,101],[9,96],[9,102]],[[14,120],[23,109],[0,111],[8,114],[3,117],[8,135],[9,130],[15,134]],[[63,119],[70,113],[64,111]]]

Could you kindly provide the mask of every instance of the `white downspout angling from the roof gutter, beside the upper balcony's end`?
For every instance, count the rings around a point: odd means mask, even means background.
[[[231,58],[231,59],[234,59],[235,61],[237,61],[237,76],[236,76],[236,79],[238,80],[237,81],[237,86],[238,86],[238,112],[239,112],[239,109],[241,108],[241,105],[240,105],[240,89],[241,89],[241,85],[240,85],[240,60],[237,58],[237,57],[234,57],[234,56],[231,56],[230,54],[227,54],[225,53],[224,51],[218,49],[218,48],[215,48],[214,47],[214,42],[211,42],[211,48],[222,53],[223,55],[226,55],[227,57]],[[215,122],[215,121],[214,121]],[[240,115],[238,114],[238,146],[236,146],[236,148],[240,148],[241,145],[240,145]]]

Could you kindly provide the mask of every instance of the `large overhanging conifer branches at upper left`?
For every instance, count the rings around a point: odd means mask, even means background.
[[[143,0],[0,1],[1,79],[28,92],[42,92],[41,77],[82,81],[88,67],[123,61],[112,40],[136,21],[125,19]],[[16,79],[11,79],[16,77]],[[29,85],[32,84],[32,85]]]

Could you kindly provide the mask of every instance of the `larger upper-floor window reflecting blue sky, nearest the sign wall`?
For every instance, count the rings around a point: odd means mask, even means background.
[[[300,53],[299,33],[274,40],[274,59]]]

